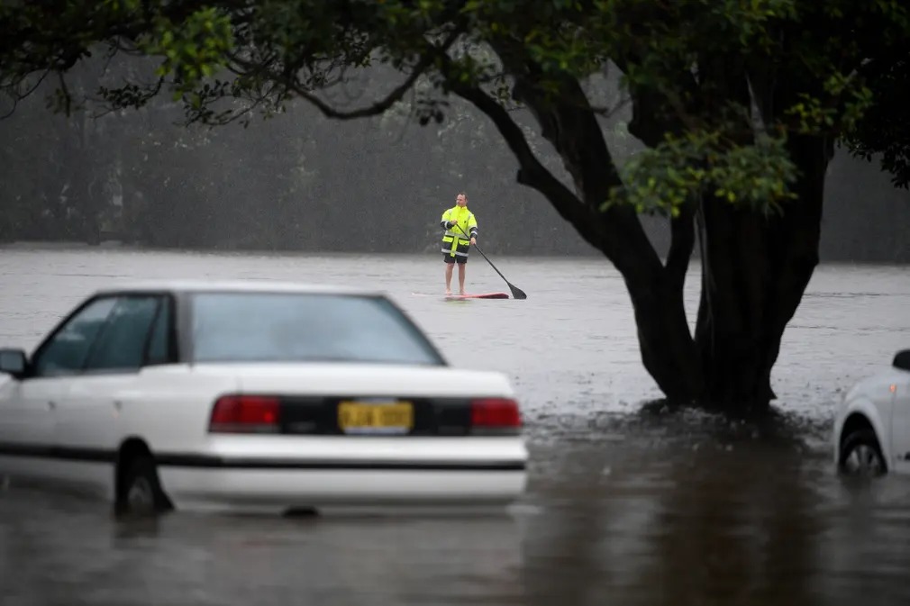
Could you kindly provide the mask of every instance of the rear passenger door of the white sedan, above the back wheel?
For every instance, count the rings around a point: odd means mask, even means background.
[[[141,378],[149,363],[167,361],[169,299],[137,294],[117,299],[107,322],[55,411],[55,445],[74,489],[113,497],[114,463],[123,435],[123,407],[141,402],[149,386]],[[154,327],[158,329],[154,329]],[[162,328],[165,327],[165,328]]]

